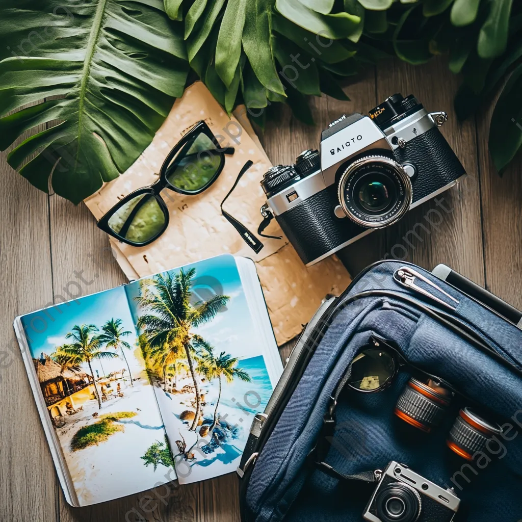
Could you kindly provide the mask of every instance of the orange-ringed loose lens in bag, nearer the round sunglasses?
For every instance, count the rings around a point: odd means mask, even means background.
[[[397,400],[395,414],[415,428],[429,433],[440,424],[452,397],[452,392],[440,384],[431,380],[423,383],[412,377]]]

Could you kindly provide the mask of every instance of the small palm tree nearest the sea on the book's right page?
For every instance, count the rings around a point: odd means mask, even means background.
[[[208,430],[209,433],[212,433],[218,423],[218,408],[219,401],[221,400],[222,378],[224,378],[228,384],[232,383],[235,378],[239,378],[241,381],[246,383],[252,382],[252,379],[243,369],[238,368],[239,359],[232,357],[230,353],[221,352],[216,357],[213,353],[214,348],[201,338],[197,338],[194,344],[198,348],[201,348],[201,351],[198,354],[198,369],[209,381],[216,378],[219,381],[219,395],[218,400],[216,401],[216,408],[214,409],[214,418],[212,425]]]

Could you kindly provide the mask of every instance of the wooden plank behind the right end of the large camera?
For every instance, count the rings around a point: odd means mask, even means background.
[[[394,60],[378,68],[379,100],[395,92],[404,96],[415,94],[428,111],[447,112],[449,118],[441,132],[468,173],[468,179],[459,187],[440,196],[439,200],[443,199],[441,206],[437,207],[432,199],[386,229],[386,252],[389,258],[405,259],[430,270],[438,263],[445,263],[482,284],[484,268],[476,129],[473,121],[464,124],[457,121],[453,98],[458,84],[459,79],[449,72],[444,60],[417,67]],[[408,234],[417,223],[423,224],[426,230],[417,227],[418,237]]]

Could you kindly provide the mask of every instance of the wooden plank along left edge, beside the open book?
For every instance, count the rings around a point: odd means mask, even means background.
[[[56,476],[13,319],[51,302],[48,196],[9,167],[0,154],[0,518],[56,522]]]

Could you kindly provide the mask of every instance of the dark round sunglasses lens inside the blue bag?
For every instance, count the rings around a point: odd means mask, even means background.
[[[352,361],[348,384],[364,392],[374,392],[389,383],[395,375],[395,361],[386,351],[367,348]]]

